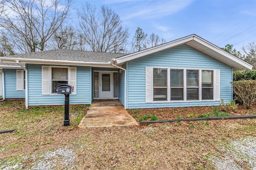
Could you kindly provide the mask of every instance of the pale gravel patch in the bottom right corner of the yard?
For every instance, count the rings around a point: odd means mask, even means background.
[[[212,156],[218,170],[256,170],[256,137],[246,137],[224,146],[225,156]]]

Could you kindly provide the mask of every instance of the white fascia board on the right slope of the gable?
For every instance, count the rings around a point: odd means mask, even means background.
[[[202,45],[216,51],[217,53],[223,55],[224,57],[228,58],[228,59],[231,59],[232,61],[235,61],[236,63],[248,68],[248,69],[252,69],[252,65],[247,63],[246,61],[228,53],[227,51],[221,49],[220,47],[217,47],[216,45],[213,45],[212,43],[209,43],[208,41],[204,40],[204,39],[201,39],[200,37],[198,36],[195,36],[194,37],[194,41],[197,41],[198,43],[201,43]],[[228,64],[228,63],[227,63]]]

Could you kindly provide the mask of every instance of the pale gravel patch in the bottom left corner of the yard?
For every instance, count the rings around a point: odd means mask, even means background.
[[[0,162],[1,170],[50,170],[50,169],[74,169],[74,149],[65,147],[60,149],[48,150],[44,153],[32,154],[15,160]]]

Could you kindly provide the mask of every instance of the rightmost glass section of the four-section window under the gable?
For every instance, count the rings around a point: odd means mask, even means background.
[[[202,100],[213,99],[213,71],[202,70]]]

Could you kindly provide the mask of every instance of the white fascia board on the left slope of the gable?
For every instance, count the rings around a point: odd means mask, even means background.
[[[138,51],[136,53],[132,53],[132,54],[129,54],[129,55],[125,55],[123,57],[116,58],[116,63],[117,64],[125,63],[126,61],[134,60],[134,59],[144,57],[146,55],[150,55],[150,54],[153,54],[153,53],[156,53],[156,52],[159,52],[159,51],[163,51],[163,50],[166,50],[166,49],[169,49],[169,48],[181,45],[181,44],[185,44],[188,41],[192,41],[193,37],[194,37],[194,35],[190,35],[190,36],[187,36],[187,37],[184,37],[184,38],[181,38],[181,39],[171,41],[169,43],[165,43],[165,44],[162,44],[162,45],[158,45],[156,47],[152,47],[150,49],[145,49],[145,50],[142,50],[142,51]]]

